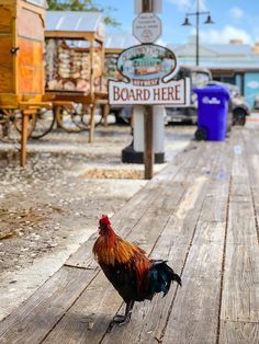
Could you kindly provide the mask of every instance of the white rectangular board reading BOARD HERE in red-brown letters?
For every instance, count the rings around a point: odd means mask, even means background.
[[[109,80],[111,105],[185,106],[190,104],[190,79],[171,80],[148,87]]]

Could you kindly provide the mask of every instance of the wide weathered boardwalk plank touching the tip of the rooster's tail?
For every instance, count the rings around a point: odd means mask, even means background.
[[[230,157],[227,149],[225,153]],[[160,336],[162,343],[216,342],[229,180],[230,159],[222,165],[219,154],[182,273],[184,283]]]

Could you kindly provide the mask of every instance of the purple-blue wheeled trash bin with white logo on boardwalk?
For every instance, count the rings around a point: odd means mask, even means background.
[[[221,84],[207,84],[193,90],[198,94],[196,139],[224,141],[227,133],[230,92]]]

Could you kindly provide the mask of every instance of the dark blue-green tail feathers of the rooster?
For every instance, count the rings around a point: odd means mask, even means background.
[[[165,297],[173,280],[182,285],[181,277],[166,264],[166,261],[154,261],[149,271],[148,299],[153,299],[156,293],[162,293]]]

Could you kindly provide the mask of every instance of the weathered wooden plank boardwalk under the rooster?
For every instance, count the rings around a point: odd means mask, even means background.
[[[112,218],[181,274],[182,288],[137,303],[132,322],[100,272],[95,236],[0,323],[0,343],[259,343],[259,130],[191,142]]]

